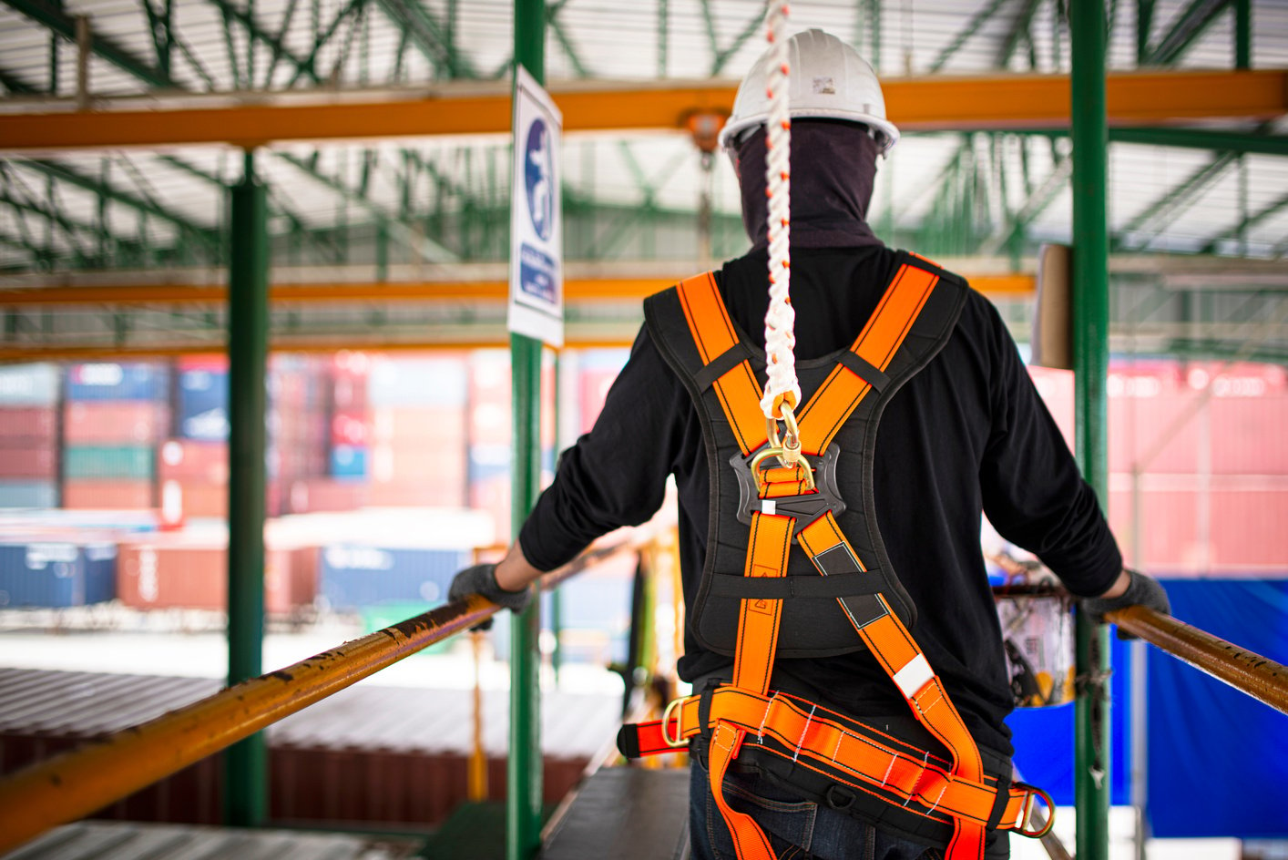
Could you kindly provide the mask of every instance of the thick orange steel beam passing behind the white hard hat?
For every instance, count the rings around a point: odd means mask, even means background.
[[[737,89],[730,81],[592,86],[551,86],[565,131],[681,129],[694,112],[728,113]],[[1114,124],[1288,113],[1285,70],[1119,72],[1108,76],[1106,86]],[[1069,124],[1069,79],[1063,75],[890,79],[882,89],[890,118],[905,131]],[[510,118],[509,88],[363,103],[12,113],[0,116],[0,151],[219,143],[250,148],[289,140],[504,134]]]

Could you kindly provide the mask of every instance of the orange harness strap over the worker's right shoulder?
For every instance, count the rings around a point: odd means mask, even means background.
[[[939,276],[925,269],[907,264],[899,266],[850,351],[885,372],[938,282]],[[819,454],[827,451],[832,438],[871,388],[844,364],[832,368],[823,385],[796,416],[805,453]]]

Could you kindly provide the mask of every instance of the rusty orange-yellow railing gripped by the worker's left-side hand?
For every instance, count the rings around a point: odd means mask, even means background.
[[[627,543],[620,543],[586,552],[544,577],[541,586],[553,588],[627,548]],[[0,779],[0,855],[178,772],[497,612],[496,604],[470,595],[10,774]]]

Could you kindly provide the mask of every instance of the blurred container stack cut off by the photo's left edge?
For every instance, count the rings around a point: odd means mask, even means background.
[[[58,503],[58,368],[0,367],[0,507]]]

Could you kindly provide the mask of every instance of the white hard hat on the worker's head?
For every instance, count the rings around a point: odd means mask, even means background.
[[[877,75],[857,50],[822,30],[806,30],[787,40],[787,112],[792,118],[862,122],[878,133],[882,154],[898,143],[899,129],[885,118]],[[770,54],[765,53],[742,79],[733,115],[720,130],[721,147],[735,145],[742,131],[769,118],[769,63]]]

